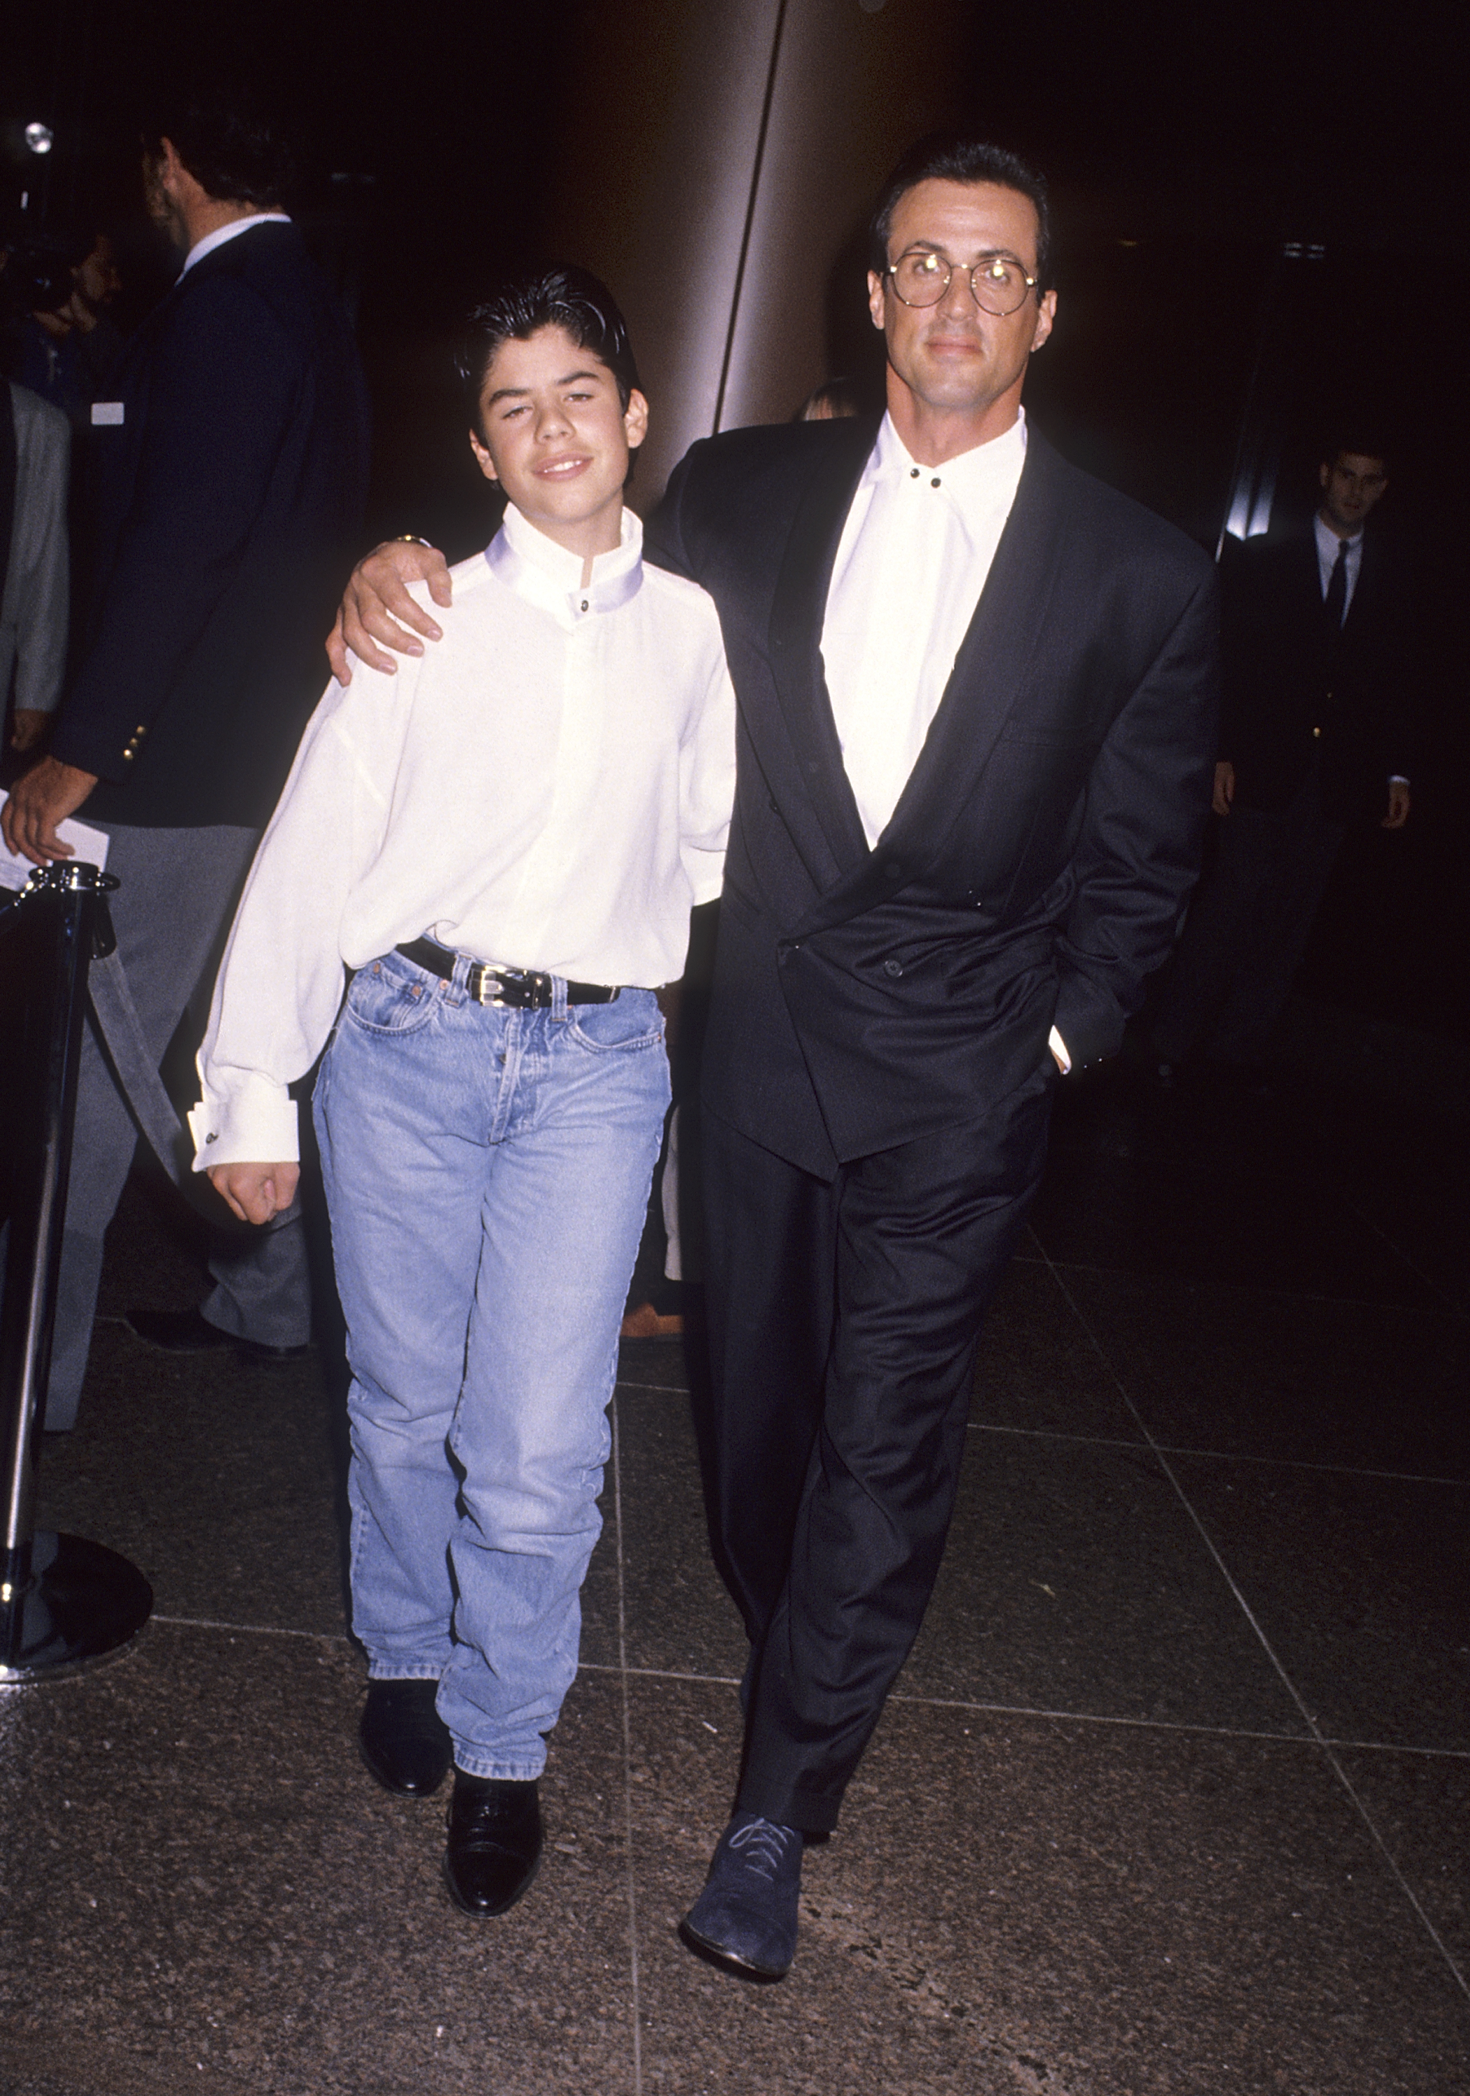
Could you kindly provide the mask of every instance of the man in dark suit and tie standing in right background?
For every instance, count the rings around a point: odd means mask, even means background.
[[[1388,467],[1334,446],[1319,480],[1309,532],[1246,541],[1225,568],[1223,822],[1153,1025],[1166,1077],[1193,1050],[1262,1069],[1348,824],[1409,820],[1409,620],[1365,532]]]

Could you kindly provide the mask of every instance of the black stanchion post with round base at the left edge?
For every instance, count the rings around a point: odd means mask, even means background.
[[[92,956],[113,947],[105,891],[115,887],[94,866],[48,866],[0,914],[8,1224],[0,1312],[0,1687],[50,1681],[115,1652],[153,1608],[153,1589],[126,1557],[34,1528],[86,970]]]

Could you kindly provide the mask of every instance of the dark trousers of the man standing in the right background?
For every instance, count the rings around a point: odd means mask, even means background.
[[[1267,1061],[1344,834],[1321,811],[1315,767],[1290,807],[1237,805],[1220,822],[1153,1021],[1160,1061]]]

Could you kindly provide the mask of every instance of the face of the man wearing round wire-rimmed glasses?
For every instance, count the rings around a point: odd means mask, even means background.
[[[969,287],[969,264],[1011,256],[1036,275],[1036,205],[998,182],[916,182],[893,212],[889,262],[929,249],[952,264],[937,306],[906,306],[891,277],[868,270],[868,312],[887,337],[889,396],[893,381],[916,411],[954,415],[998,436],[1015,421],[1032,350],[1051,333],[1057,293],[1038,302],[1028,291],[1017,312],[981,312]],[[893,405],[893,402],[891,402]]]

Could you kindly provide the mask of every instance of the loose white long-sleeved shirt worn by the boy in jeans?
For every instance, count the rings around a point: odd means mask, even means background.
[[[327,1042],[344,966],[424,933],[585,983],[682,973],[734,799],[719,618],[644,566],[631,511],[587,587],[581,570],[510,509],[453,570],[442,641],[327,685],[214,987],[195,1170],[296,1157],[287,1084]]]

